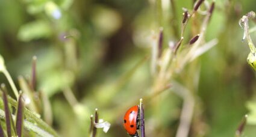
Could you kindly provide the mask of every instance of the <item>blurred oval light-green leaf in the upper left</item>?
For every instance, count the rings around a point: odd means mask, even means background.
[[[48,38],[52,35],[52,29],[43,20],[37,20],[34,22],[23,25],[18,32],[17,37],[22,41],[31,41],[39,38]]]

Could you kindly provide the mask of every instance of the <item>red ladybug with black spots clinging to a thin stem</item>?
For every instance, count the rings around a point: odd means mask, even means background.
[[[139,129],[139,106],[132,106],[123,117],[123,127],[126,132],[133,137],[139,137],[137,129]]]

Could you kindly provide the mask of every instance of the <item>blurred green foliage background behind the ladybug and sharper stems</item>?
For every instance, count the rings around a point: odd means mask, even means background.
[[[161,17],[158,2],[163,3]],[[163,26],[168,48],[179,38],[182,8],[192,10],[193,2],[0,0],[0,54],[16,84],[17,76],[30,76],[31,59],[37,56],[37,90],[48,95],[52,127],[61,136],[89,135],[95,108],[111,123],[108,133],[99,129],[97,136],[128,136],[123,115],[151,92],[154,82],[150,58],[143,61],[151,54],[152,31]],[[254,0],[216,1],[205,40],[219,43],[175,76],[190,87],[198,74],[189,136],[234,136],[243,115],[256,111],[255,72],[246,62],[249,48],[239,26],[255,5]],[[186,29],[186,35],[191,33],[193,26]],[[251,37],[255,41],[255,33]],[[4,75],[0,81],[8,83]],[[67,101],[70,92],[77,102]],[[157,103],[145,102],[147,136],[175,136],[183,100],[172,90],[155,98]],[[246,125],[245,136],[256,135],[254,124]]]

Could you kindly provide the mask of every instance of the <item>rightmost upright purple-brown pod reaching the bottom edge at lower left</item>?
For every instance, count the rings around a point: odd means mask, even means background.
[[[23,119],[24,119],[23,109],[24,109],[24,106],[22,101],[22,94],[20,94],[19,100],[18,100],[17,114],[16,114],[16,131],[17,131],[17,136],[19,137],[22,136],[22,130],[23,130]]]

